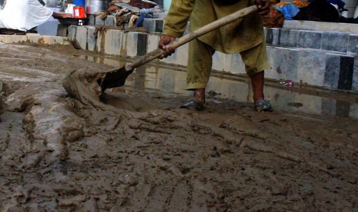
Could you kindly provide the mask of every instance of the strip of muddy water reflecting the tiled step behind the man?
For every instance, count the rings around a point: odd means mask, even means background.
[[[86,60],[122,67],[120,58],[79,56]],[[125,88],[154,89],[163,95],[190,96],[186,91],[185,68],[171,65],[149,63],[138,67],[128,77]],[[252,102],[252,89],[248,78],[213,73],[207,85],[207,92],[212,91],[211,104],[220,104],[222,100],[234,100],[241,103]],[[123,88],[111,92],[123,92]],[[278,110],[304,112],[310,114],[358,118],[358,95],[328,89],[317,89],[304,85],[286,86],[276,81],[265,85],[266,99]],[[209,96],[209,95],[208,95]],[[221,100],[221,101],[220,101]]]

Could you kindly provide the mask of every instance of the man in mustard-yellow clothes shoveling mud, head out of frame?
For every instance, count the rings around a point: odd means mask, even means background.
[[[164,26],[165,36],[159,41],[159,47],[166,50],[161,58],[174,53],[174,48],[165,45],[182,36],[189,17],[190,31],[193,31],[253,4],[252,0],[173,0]],[[257,0],[256,4],[260,8],[258,14],[247,15],[189,43],[186,83],[194,96],[182,107],[205,108],[205,88],[211,72],[212,55],[217,50],[225,54],[240,52],[246,73],[251,78],[255,109],[272,111],[269,101],[264,100],[264,70],[269,64],[260,16],[269,12],[270,2],[266,1],[262,6],[262,0]]]

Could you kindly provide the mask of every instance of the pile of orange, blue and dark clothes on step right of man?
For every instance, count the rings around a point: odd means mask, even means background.
[[[358,17],[347,18],[340,15],[344,11],[342,0],[294,0],[292,3],[274,4],[264,17],[264,26],[282,27],[286,20],[308,20],[322,22],[358,23]]]

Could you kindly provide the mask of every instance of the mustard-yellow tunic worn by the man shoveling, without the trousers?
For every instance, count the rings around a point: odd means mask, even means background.
[[[253,0],[172,0],[164,25],[164,34],[182,36],[190,17],[190,31],[237,10],[253,5]],[[256,12],[199,38],[215,50],[234,54],[262,43],[262,16]]]

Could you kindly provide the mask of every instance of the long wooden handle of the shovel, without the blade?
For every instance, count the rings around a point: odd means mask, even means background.
[[[201,35],[204,35],[204,34],[211,32],[217,28],[220,28],[226,24],[234,22],[234,21],[236,21],[248,14],[251,14],[257,10],[258,10],[257,5],[252,5],[252,6],[244,8],[244,9],[240,9],[239,11],[236,11],[236,12],[234,12],[230,15],[227,15],[225,17],[222,17],[212,23],[209,23],[203,27],[196,29],[195,31],[190,32],[189,34],[186,34],[186,35],[180,37],[176,41],[169,43],[167,46],[171,46],[174,49],[176,49],[179,46],[181,46],[195,38],[200,37]],[[131,64],[127,65],[125,67],[125,69],[127,71],[132,71],[133,69],[135,69],[143,64],[146,64],[156,58],[159,58],[164,53],[165,53],[165,50],[163,50],[161,48],[157,48],[156,50],[148,53],[147,55],[140,57],[137,60],[133,61]]]

